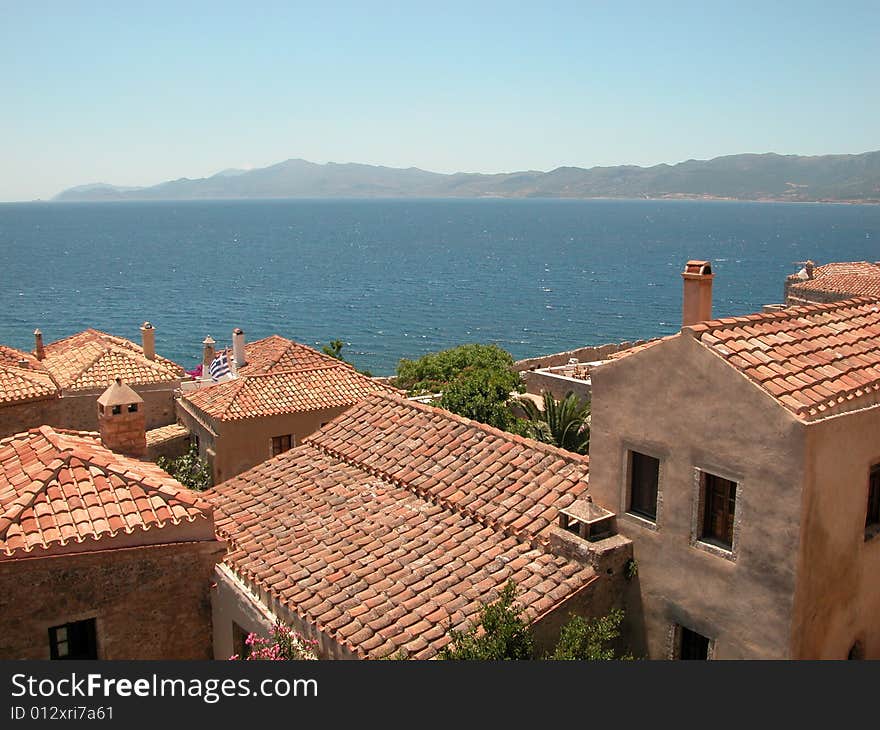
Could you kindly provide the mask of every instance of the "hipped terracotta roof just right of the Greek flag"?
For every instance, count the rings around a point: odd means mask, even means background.
[[[348,363],[273,335],[246,345],[238,377],[187,393],[183,399],[220,421],[351,406],[395,388]]]

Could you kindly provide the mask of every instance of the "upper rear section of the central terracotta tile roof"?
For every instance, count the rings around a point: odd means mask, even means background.
[[[306,441],[535,545],[588,487],[589,457],[376,394]]]

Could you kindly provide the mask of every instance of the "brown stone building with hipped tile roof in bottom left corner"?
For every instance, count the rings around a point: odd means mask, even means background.
[[[0,659],[209,659],[224,552],[206,500],[98,434],[0,440]]]

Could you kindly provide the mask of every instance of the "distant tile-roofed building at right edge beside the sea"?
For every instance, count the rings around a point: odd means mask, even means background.
[[[790,307],[827,304],[853,297],[880,299],[880,263],[834,262],[804,268],[785,280],[785,303]]]

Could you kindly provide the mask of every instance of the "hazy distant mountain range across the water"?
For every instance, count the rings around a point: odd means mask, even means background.
[[[486,175],[444,175],[415,167],[318,165],[287,160],[256,170],[223,170],[152,187],[96,183],[58,201],[247,198],[721,198],[880,203],[880,151],[860,155],[745,154],[676,165],[559,167]]]

